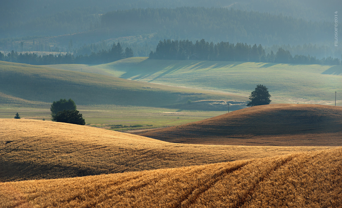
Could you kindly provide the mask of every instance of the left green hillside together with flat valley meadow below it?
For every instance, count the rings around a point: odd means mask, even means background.
[[[112,130],[181,125],[227,112],[203,110],[203,104],[196,105],[203,100],[241,105],[248,100],[226,92],[0,62],[0,118],[13,118],[18,112],[22,118],[50,120],[50,105],[61,98],[73,99],[88,125]]]

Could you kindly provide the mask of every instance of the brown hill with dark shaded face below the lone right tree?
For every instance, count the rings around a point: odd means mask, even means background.
[[[135,134],[188,144],[341,146],[342,107],[254,106],[194,123]]]

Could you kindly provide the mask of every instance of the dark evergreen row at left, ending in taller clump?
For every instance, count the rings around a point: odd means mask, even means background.
[[[90,55],[58,54],[58,55],[37,55],[35,53],[18,53],[11,51],[7,55],[0,52],[0,61],[15,63],[24,63],[32,65],[50,65],[50,64],[103,64],[117,61],[123,58],[133,57],[133,50],[126,48],[123,50],[120,43],[113,44],[109,50],[102,50]]]

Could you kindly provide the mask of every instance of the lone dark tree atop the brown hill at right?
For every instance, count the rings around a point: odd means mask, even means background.
[[[268,105],[271,103],[269,98],[271,95],[268,93],[268,88],[262,84],[258,84],[255,90],[249,96],[249,103],[247,106]]]

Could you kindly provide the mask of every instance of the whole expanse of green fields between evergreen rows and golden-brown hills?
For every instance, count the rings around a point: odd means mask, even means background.
[[[175,126],[227,112],[206,109],[202,101],[241,101],[242,106],[259,83],[268,87],[271,103],[333,105],[338,91],[341,106],[341,75],[341,66],[146,57],[102,65],[0,62],[0,118],[13,118],[18,112],[22,118],[50,119],[50,104],[71,98],[90,126],[112,130]],[[188,100],[193,102],[187,104]],[[141,127],[131,128],[137,125]]]

